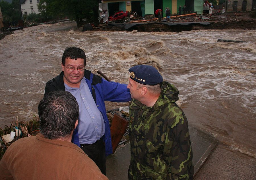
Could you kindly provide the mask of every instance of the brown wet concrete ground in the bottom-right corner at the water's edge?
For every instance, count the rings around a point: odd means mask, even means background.
[[[219,143],[194,180],[256,179],[255,161],[255,158],[230,150],[227,145]]]

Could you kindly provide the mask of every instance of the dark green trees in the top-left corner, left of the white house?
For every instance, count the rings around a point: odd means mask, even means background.
[[[1,0],[0,6],[4,21],[17,24],[18,20],[22,19],[19,0],[13,0],[12,3],[8,3],[6,1]]]

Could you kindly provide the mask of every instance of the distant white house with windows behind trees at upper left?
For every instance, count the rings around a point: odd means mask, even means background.
[[[20,6],[22,10],[22,14],[30,14],[35,12],[36,14],[39,13],[37,5],[40,0],[20,0]]]

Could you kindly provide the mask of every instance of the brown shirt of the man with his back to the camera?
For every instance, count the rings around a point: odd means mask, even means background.
[[[42,134],[14,142],[0,161],[0,179],[108,179],[77,145]]]

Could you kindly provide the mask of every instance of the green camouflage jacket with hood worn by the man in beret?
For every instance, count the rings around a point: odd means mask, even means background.
[[[193,178],[188,122],[175,102],[178,94],[176,87],[164,81],[154,106],[131,101],[129,179]]]

